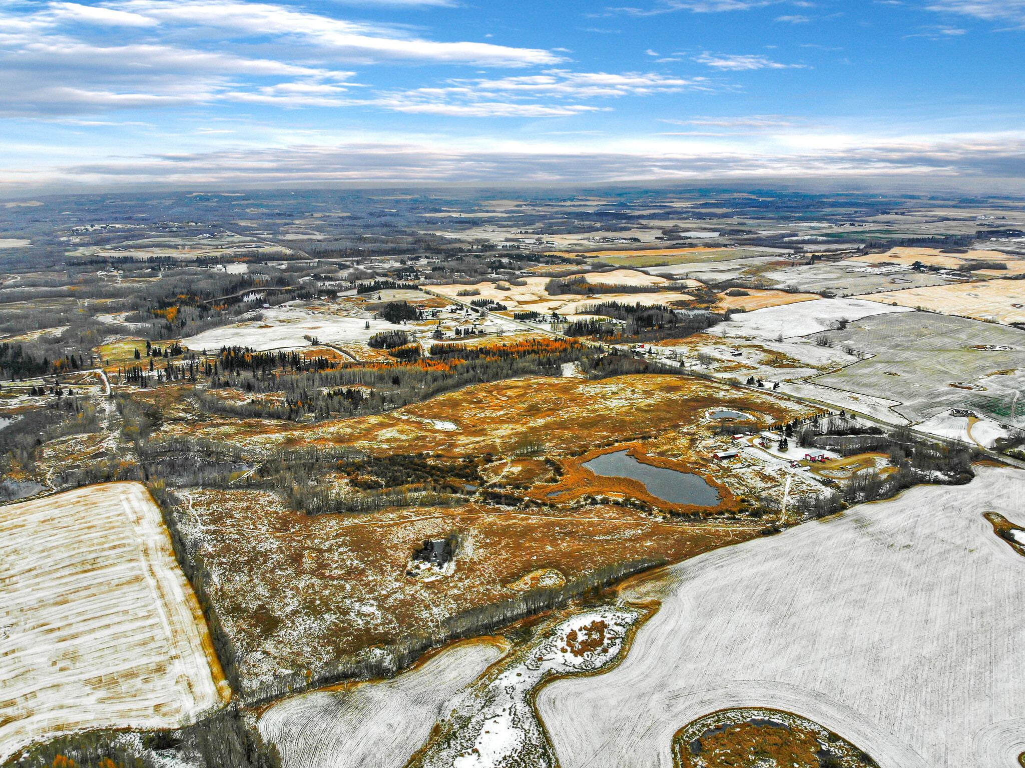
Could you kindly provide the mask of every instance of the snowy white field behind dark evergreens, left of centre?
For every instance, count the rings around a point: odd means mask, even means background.
[[[261,321],[238,323],[234,326],[204,331],[182,341],[190,349],[213,351],[222,346],[251,347],[258,351],[295,349],[310,346],[303,336],[313,336],[326,344],[365,342],[381,331],[411,331],[410,326],[397,326],[382,319],[346,317],[316,312],[301,307],[280,306],[262,309]],[[367,328],[367,324],[370,328]]]

